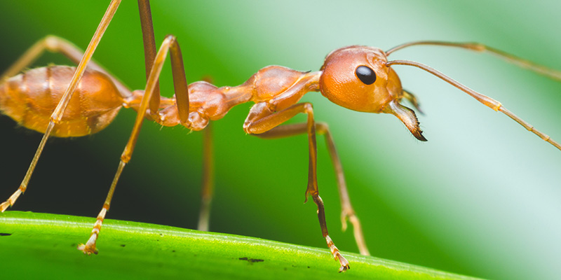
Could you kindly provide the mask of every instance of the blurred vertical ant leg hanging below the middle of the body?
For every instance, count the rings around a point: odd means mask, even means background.
[[[210,204],[214,187],[214,165],[212,150],[212,125],[208,123],[203,130],[203,188],[201,189],[201,211],[198,216],[197,230],[208,232]]]

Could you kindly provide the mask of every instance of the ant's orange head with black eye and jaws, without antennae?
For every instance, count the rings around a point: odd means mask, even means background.
[[[379,48],[351,45],[332,51],[321,66],[320,92],[347,109],[397,116],[421,141],[426,141],[415,113],[399,104],[403,89],[398,75],[386,65]]]

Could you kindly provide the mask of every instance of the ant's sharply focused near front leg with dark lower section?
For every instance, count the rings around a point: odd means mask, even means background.
[[[296,116],[298,113],[306,113],[308,115],[308,121],[306,123],[306,132],[308,134],[308,144],[309,144],[309,169],[308,169],[308,188],[306,188],[306,201],[308,200],[308,195],[311,195],[313,202],[318,206],[318,219],[320,222],[321,232],[327,246],[335,258],[339,260],[341,267],[339,272],[345,272],[349,269],[349,261],[347,261],[339,249],[333,243],[329,233],[327,232],[327,223],[325,222],[325,209],[323,207],[323,200],[319,195],[318,190],[318,179],[316,176],[317,170],[317,145],[316,145],[316,123],[313,120],[313,109],[310,103],[299,103],[283,109],[278,112],[271,111],[269,109],[269,104],[266,102],[259,102],[255,104],[243,124],[243,129],[249,134],[262,134],[273,130],[273,128],[284,123],[290,118]]]

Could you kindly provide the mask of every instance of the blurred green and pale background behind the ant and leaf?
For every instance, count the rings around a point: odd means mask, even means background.
[[[0,71],[27,47],[55,34],[86,48],[109,1],[1,1]],[[316,71],[345,45],[384,50],[417,40],[478,41],[561,69],[560,3],[538,1],[154,1],[157,44],[175,34],[187,79],[210,76],[238,85],[263,66]],[[94,59],[133,89],[144,87],[142,36],[135,1],[123,1]],[[412,59],[498,99],[561,141],[561,83],[491,55],[415,47]],[[46,55],[36,65],[69,64]],[[561,251],[561,153],[463,92],[418,69],[395,66],[417,94],[428,139],[420,143],[393,116],[358,113],[318,93],[316,120],[329,123],[351,201],[366,241],[380,258],[492,279],[558,279]],[[173,94],[169,66],[161,78]],[[306,189],[306,137],[245,135],[250,104],[213,124],[216,191],[211,230],[325,247]],[[119,163],[135,113],[123,110],[106,130],[51,139],[29,191],[13,209],[96,216]],[[294,122],[304,121],[299,116]],[[0,198],[18,187],[41,135],[0,117]],[[108,218],[196,228],[201,133],[144,123]],[[339,198],[323,137],[318,179],[330,235],[341,232]],[[85,237],[87,234],[85,233]],[[103,235],[101,235],[103,238]],[[84,240],[85,241],[85,240]],[[102,258],[101,254],[96,258]]]

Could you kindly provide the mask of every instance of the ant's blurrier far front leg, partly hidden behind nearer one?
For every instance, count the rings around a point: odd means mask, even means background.
[[[298,123],[295,125],[280,125],[268,132],[257,134],[255,136],[262,139],[276,139],[304,133],[306,133],[306,123]],[[331,136],[329,127],[326,123],[316,123],[316,133],[319,135],[325,135],[325,144],[327,144],[327,150],[329,151],[333,169],[337,176],[337,188],[339,189],[339,199],[341,200],[341,223],[343,225],[343,231],[346,230],[346,221],[351,221],[353,224],[358,251],[360,251],[361,255],[370,255],[364,239],[363,228],[360,225],[360,221],[358,220],[358,217],[353,209],[353,205],[351,204],[349,190],[346,188],[343,166],[341,165],[341,160],[337,154],[337,148],[335,148],[335,143]]]

